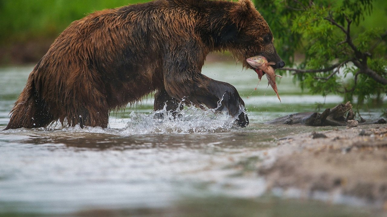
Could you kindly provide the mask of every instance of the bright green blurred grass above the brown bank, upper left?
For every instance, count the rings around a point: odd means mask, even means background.
[[[0,44],[55,38],[71,22],[96,10],[150,0],[0,0]]]

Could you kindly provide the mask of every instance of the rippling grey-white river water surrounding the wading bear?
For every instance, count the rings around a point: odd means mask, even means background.
[[[32,68],[0,68],[0,130]],[[106,129],[51,126],[0,131],[0,216],[355,213],[339,205],[272,197],[256,171],[265,151],[275,146],[272,141],[331,129],[265,121],[312,111],[318,103],[331,107],[342,98],[302,93],[290,76],[284,76],[277,81],[280,103],[266,78],[253,90],[257,75],[239,64],[205,64],[203,73],[236,87],[247,106],[248,127],[240,129],[227,115],[193,107],[186,107],[178,120],[153,119],[149,96],[111,112]],[[378,119],[380,109],[363,110],[363,117]]]

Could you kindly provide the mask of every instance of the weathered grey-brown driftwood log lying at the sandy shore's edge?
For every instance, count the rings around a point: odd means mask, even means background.
[[[348,112],[348,113],[347,113]],[[345,115],[347,114],[347,115]],[[385,124],[384,119],[376,121],[365,121],[363,118],[354,121],[354,112],[352,110],[351,102],[339,104],[334,108],[327,108],[324,112],[303,112],[280,117],[266,124],[303,124],[309,126],[345,126],[349,123],[357,124]]]

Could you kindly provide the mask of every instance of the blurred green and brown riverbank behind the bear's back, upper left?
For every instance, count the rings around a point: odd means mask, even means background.
[[[0,65],[37,62],[68,25],[96,10],[150,0],[0,0]]]

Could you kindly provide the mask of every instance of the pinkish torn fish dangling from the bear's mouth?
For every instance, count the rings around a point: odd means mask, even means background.
[[[274,62],[267,62],[267,59],[264,56],[253,56],[246,59],[247,63],[250,64],[253,68],[255,68],[255,72],[258,75],[259,81],[262,79],[262,76],[265,74],[268,80],[267,86],[271,86],[276,92],[279,102],[281,102],[281,98],[278,95],[278,89],[276,84],[276,77],[282,78],[280,75],[276,75],[276,71],[271,65],[275,65]]]

